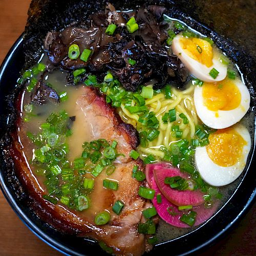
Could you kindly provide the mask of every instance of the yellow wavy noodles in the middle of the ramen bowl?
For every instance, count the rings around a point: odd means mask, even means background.
[[[158,130],[160,134],[154,141],[148,144],[147,148],[140,147],[140,151],[144,154],[154,154],[155,156],[162,157],[163,152],[159,150],[160,146],[164,145],[169,147],[170,143],[179,140],[179,138],[174,136],[172,131],[173,125],[179,125],[179,129],[183,132],[183,139],[190,140],[195,136],[195,126],[198,124],[198,117],[193,100],[194,86],[190,85],[188,89],[184,91],[179,91],[175,88],[172,88],[171,90],[173,94],[171,99],[166,99],[163,93],[159,93],[154,95],[152,99],[145,100],[148,109],[156,114],[159,121]],[[134,104],[135,102],[132,102],[132,105]],[[174,108],[176,109],[176,121],[164,124],[162,121],[162,116]],[[121,108],[119,108],[118,113],[125,122],[131,123],[139,131],[142,129],[143,126],[138,121],[139,116],[136,114],[131,114],[124,108],[123,104],[121,104]],[[187,117],[187,124],[184,124],[183,119],[179,117],[179,114],[181,113]]]

